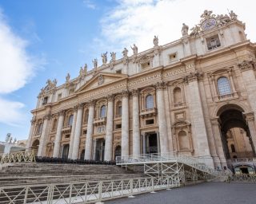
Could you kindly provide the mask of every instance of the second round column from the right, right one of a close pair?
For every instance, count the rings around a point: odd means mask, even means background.
[[[141,154],[141,139],[139,134],[138,90],[133,90],[133,155]]]

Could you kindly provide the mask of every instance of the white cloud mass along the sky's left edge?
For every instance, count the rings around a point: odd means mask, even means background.
[[[0,8],[0,124],[17,126],[25,121],[24,104],[6,100],[4,96],[22,88],[44,63],[26,53],[27,45],[10,29]]]

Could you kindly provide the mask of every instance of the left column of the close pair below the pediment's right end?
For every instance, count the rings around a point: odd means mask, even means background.
[[[122,142],[121,155],[129,155],[129,92],[122,92]]]

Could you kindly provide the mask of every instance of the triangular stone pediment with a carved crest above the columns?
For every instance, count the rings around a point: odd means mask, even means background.
[[[98,88],[106,84],[111,84],[115,81],[126,79],[127,75],[122,73],[104,73],[98,72],[90,80],[86,81],[82,87],[78,88],[76,92],[84,92],[86,90]]]

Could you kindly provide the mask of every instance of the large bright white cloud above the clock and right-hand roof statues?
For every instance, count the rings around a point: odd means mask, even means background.
[[[118,51],[135,43],[139,51],[153,47],[154,35],[163,45],[182,37],[182,23],[192,28],[200,22],[204,10],[227,14],[234,10],[246,22],[246,33],[255,41],[254,6],[239,0],[122,0],[102,18],[102,36],[95,38],[95,51]],[[254,38],[253,38],[254,37]],[[131,54],[130,50],[130,54]],[[98,53],[99,54],[99,53]]]

